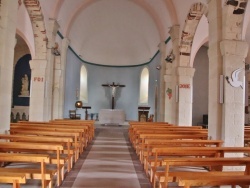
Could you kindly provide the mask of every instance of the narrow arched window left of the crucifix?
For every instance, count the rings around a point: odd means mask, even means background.
[[[88,102],[88,73],[84,65],[81,67],[80,80],[80,101]]]

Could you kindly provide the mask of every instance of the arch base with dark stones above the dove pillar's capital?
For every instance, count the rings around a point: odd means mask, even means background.
[[[223,38],[242,40],[243,19],[247,0],[227,0],[224,7]]]

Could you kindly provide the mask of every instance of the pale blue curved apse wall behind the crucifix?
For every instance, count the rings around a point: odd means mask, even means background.
[[[88,73],[88,103],[91,106],[88,113],[99,113],[101,109],[111,109],[111,90],[102,84],[113,82],[125,85],[117,89],[115,109],[123,109],[126,120],[138,120],[138,101],[140,88],[140,74],[147,66],[149,69],[149,103],[150,112],[154,114],[155,80],[159,80],[159,71],[156,66],[160,62],[157,54],[147,65],[136,67],[105,67],[83,63],[70,49],[67,52],[66,81],[65,81],[65,106],[64,117],[69,117],[69,110],[75,109],[76,90],[80,88],[80,69],[84,64]],[[84,119],[84,109],[77,110]]]

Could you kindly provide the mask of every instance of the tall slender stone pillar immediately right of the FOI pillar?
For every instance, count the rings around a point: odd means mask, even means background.
[[[52,119],[52,106],[53,106],[53,98],[52,98],[52,87],[53,87],[53,78],[54,78],[54,62],[55,62],[55,55],[54,50],[56,47],[55,38],[57,35],[59,25],[56,20],[50,19],[48,22],[48,44],[47,44],[47,59],[48,64],[46,67],[46,95],[45,95],[45,121],[49,121]]]

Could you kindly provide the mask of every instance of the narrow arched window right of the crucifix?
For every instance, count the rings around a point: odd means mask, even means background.
[[[142,69],[141,72],[139,104],[148,104],[148,84],[149,84],[149,71],[148,68],[145,67]]]

